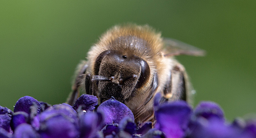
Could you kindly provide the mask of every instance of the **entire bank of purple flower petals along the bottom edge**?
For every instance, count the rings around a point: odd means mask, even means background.
[[[156,95],[155,125],[137,126],[131,110],[114,97],[95,112],[97,101],[93,95],[82,95],[74,107],[51,106],[22,97],[14,113],[0,106],[0,138],[256,138],[256,120],[225,122],[222,109],[213,102],[201,102],[192,112],[184,101],[168,102]]]

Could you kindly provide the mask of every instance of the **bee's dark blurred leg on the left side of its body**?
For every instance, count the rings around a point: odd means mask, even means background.
[[[81,86],[81,82],[85,77],[87,67],[88,65],[86,64],[86,61],[82,61],[82,63],[78,65],[78,72],[76,72],[76,78],[72,86],[72,91],[70,92],[68,99],[66,101],[66,103],[68,103],[69,105],[74,105],[76,99],[79,96],[78,89]]]

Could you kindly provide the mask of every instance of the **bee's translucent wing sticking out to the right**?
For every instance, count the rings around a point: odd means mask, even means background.
[[[205,51],[198,49],[192,45],[188,45],[181,41],[171,38],[164,38],[164,45],[167,50],[167,53],[164,56],[177,56],[181,54],[190,55],[190,56],[204,56]]]

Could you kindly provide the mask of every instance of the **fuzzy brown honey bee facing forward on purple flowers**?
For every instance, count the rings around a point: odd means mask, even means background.
[[[114,26],[78,65],[67,103],[73,105],[80,91],[97,96],[99,103],[113,96],[131,109],[137,123],[154,118],[156,93],[168,101],[191,103],[187,73],[174,59],[180,54],[202,56],[204,51],[163,38],[148,25]]]

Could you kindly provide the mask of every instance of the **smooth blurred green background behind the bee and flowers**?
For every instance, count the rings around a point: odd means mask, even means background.
[[[214,101],[229,121],[256,114],[255,7],[240,0],[2,0],[0,105],[13,109],[25,95],[65,102],[90,46],[113,25],[133,22],[207,51],[177,57],[196,89],[195,105]]]

